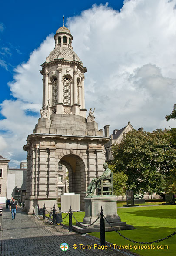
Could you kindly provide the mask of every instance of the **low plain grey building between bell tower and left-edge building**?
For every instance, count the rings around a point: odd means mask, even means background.
[[[20,168],[9,168],[7,173],[7,198],[14,197],[24,202],[26,194],[27,162],[20,162]]]

